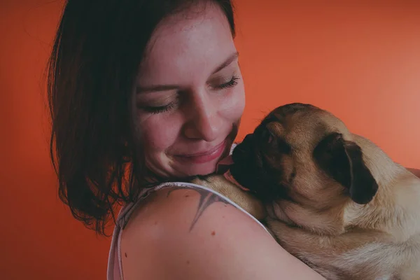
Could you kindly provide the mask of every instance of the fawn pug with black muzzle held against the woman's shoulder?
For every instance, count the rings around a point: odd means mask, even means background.
[[[218,185],[326,279],[420,279],[420,179],[332,113],[280,106],[232,160],[195,183]]]

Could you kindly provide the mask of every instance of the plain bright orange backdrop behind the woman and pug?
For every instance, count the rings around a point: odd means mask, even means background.
[[[420,168],[419,1],[317,2],[237,0],[239,139],[274,106],[306,102]],[[110,239],[57,200],[48,159],[43,71],[61,8],[0,4],[1,279],[106,278]]]

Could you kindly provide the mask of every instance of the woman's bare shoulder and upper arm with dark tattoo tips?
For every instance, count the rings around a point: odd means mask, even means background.
[[[151,195],[124,229],[121,255],[125,280],[323,279],[206,190]]]

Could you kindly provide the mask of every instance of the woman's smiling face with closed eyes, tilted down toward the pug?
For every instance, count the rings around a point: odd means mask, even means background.
[[[209,174],[227,155],[245,106],[230,25],[197,6],[155,30],[134,94],[146,167],[159,176]]]

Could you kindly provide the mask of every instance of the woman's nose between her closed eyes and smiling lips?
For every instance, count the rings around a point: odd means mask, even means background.
[[[215,141],[223,130],[223,118],[219,116],[219,104],[209,94],[195,95],[188,106],[188,121],[184,126],[184,134],[188,139]],[[197,96],[196,96],[197,95]]]

